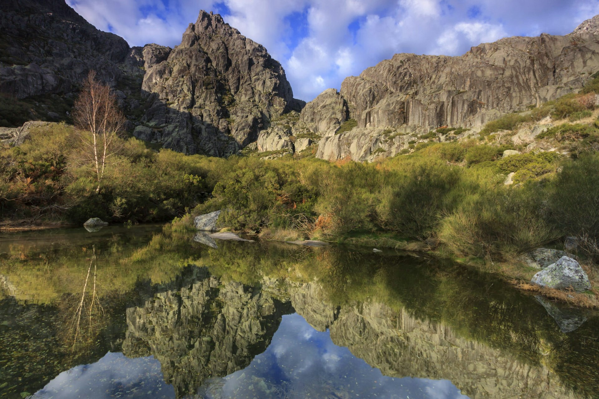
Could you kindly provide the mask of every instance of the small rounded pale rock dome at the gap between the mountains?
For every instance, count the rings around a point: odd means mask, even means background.
[[[326,135],[334,134],[341,123],[349,119],[348,114],[343,97],[337,90],[327,89],[305,105],[299,120],[307,124],[312,132]]]

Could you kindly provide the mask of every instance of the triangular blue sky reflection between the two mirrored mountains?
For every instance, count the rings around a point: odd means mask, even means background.
[[[447,380],[391,378],[332,343],[297,313],[283,316],[271,346],[205,397],[466,398]]]

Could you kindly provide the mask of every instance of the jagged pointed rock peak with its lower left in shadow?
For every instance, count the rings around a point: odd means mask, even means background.
[[[280,63],[219,15],[201,11],[164,61],[144,57],[151,106],[134,134],[167,148],[232,154],[299,105]]]

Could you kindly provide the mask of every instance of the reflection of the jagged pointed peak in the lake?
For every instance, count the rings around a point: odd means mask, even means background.
[[[222,284],[197,267],[149,294],[153,299],[127,309],[123,353],[154,355],[177,397],[195,394],[208,377],[246,367],[292,312],[289,302],[241,283]]]

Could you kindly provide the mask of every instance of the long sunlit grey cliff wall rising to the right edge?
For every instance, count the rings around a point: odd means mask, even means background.
[[[318,157],[371,160],[394,155],[407,141],[440,126],[471,132],[499,115],[522,111],[580,89],[599,70],[597,17],[568,36],[512,37],[471,48],[459,57],[395,54],[341,84],[348,112],[327,108],[329,90],[306,105],[301,120],[323,138]],[[308,112],[320,109],[318,115]],[[338,125],[323,132],[322,120],[352,118],[361,132],[335,136]],[[376,129],[379,129],[377,131]],[[386,135],[382,129],[387,129]],[[412,134],[406,143],[380,146],[388,136]]]

